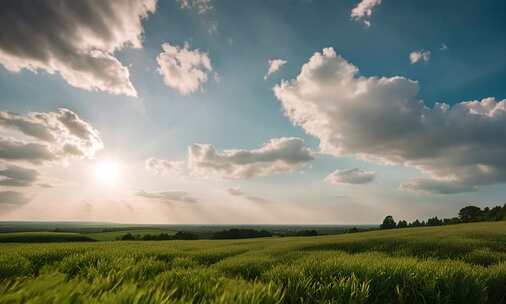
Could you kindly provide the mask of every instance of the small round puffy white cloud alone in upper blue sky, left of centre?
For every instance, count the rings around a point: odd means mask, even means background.
[[[213,70],[207,53],[199,49],[191,50],[188,43],[180,47],[166,42],[162,44],[162,49],[156,61],[165,84],[181,95],[202,89]]]

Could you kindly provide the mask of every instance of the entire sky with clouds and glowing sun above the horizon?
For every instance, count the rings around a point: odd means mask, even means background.
[[[506,3],[0,3],[0,220],[370,224],[504,204]]]

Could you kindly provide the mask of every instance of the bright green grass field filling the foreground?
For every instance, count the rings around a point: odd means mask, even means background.
[[[506,222],[0,244],[0,303],[506,303]]]

